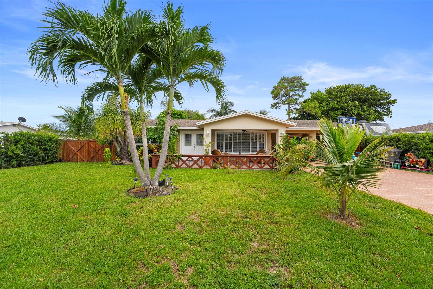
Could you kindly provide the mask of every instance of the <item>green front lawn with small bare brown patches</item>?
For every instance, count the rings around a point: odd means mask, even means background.
[[[0,288],[433,288],[428,213],[362,194],[353,228],[307,173],[167,173],[137,199],[132,166],[1,170]]]

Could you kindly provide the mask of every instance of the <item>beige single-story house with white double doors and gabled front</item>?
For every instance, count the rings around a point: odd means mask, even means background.
[[[156,120],[148,120],[150,127]],[[316,139],[319,133],[317,120],[282,120],[249,110],[216,117],[209,120],[171,120],[178,124],[180,142],[178,152],[183,155],[203,155],[203,137],[212,141],[211,149],[230,154],[250,154],[259,149],[272,149],[281,137],[307,136]]]

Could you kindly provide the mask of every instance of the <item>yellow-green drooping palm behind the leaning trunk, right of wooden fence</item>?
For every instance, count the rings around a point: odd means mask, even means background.
[[[141,136],[140,111],[129,107],[129,115],[134,136]],[[128,156],[129,140],[126,136],[125,120],[123,119],[120,99],[117,94],[112,94],[108,97],[97,112],[95,127],[100,137],[106,137],[114,143],[120,162],[123,162],[123,164],[130,164],[131,160]]]

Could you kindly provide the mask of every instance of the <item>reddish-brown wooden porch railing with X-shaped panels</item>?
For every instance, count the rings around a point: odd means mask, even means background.
[[[191,169],[272,169],[274,157],[268,155],[182,155],[173,163],[174,168]],[[159,155],[152,154],[152,168],[156,168]]]

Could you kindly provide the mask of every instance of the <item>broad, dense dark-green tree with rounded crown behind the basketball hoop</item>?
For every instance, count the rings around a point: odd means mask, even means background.
[[[339,116],[356,117],[368,122],[384,121],[392,116],[391,107],[397,102],[391,93],[375,85],[342,84],[325,91],[310,92],[301,103],[298,120],[318,120],[320,116],[338,121]]]

